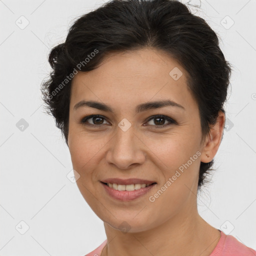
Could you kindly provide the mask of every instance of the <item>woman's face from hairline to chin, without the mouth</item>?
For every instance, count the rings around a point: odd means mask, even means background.
[[[173,58],[144,48],[108,55],[72,80],[68,147],[77,186],[96,215],[115,229],[123,223],[129,232],[155,228],[196,208],[202,134],[186,77]],[[167,100],[172,104],[148,104]],[[106,192],[101,181],[107,178],[156,184],[121,200]]]

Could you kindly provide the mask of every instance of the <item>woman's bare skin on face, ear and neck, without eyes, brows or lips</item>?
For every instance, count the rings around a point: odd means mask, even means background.
[[[174,67],[183,73],[177,80],[169,75]],[[185,69],[165,52],[143,48],[111,53],[96,69],[78,72],[72,79],[68,147],[80,175],[77,186],[104,222],[109,242],[101,256],[208,256],[220,238],[220,232],[198,214],[196,194],[200,161],[209,162],[216,154],[225,116],[219,112],[201,142],[199,110],[186,77]],[[162,99],[185,109],[165,106],[135,113],[138,104]],[[86,106],[74,110],[80,100],[103,102],[114,113]],[[104,117],[99,119],[101,127],[92,118],[87,125],[80,123],[90,114]],[[169,123],[148,120],[159,114],[177,124],[157,128]],[[123,118],[131,124],[125,132],[118,126]],[[154,202],[149,201],[196,151],[201,153],[197,159]],[[109,177],[145,178],[157,185],[148,194],[124,202],[106,194],[100,180]],[[127,232],[120,230],[123,226]]]

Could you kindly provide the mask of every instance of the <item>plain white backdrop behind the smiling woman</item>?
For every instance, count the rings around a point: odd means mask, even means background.
[[[106,239],[103,222],[68,179],[69,151],[40,94],[49,50],[64,42],[76,17],[102,3],[0,0],[1,256],[81,256]],[[233,66],[216,171],[198,195],[198,210],[255,249],[256,1],[202,0],[191,10],[218,34]]]

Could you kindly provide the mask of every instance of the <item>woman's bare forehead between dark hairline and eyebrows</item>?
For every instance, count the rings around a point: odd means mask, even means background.
[[[170,99],[195,104],[187,87],[185,69],[165,52],[144,48],[108,54],[99,66],[78,72],[72,79],[72,107],[79,100],[137,105]]]

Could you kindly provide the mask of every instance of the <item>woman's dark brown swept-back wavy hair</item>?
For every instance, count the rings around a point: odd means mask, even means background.
[[[71,74],[95,69],[113,51],[152,47],[169,54],[187,71],[188,88],[200,114],[203,137],[223,110],[231,72],[206,21],[177,0],[112,0],[79,18],[66,40],[53,47],[50,78],[41,84],[51,113],[67,143]],[[93,53],[94,52],[94,53]],[[93,53],[93,54],[92,54]],[[61,85],[62,84],[62,85]],[[200,163],[198,188],[213,160]]]

